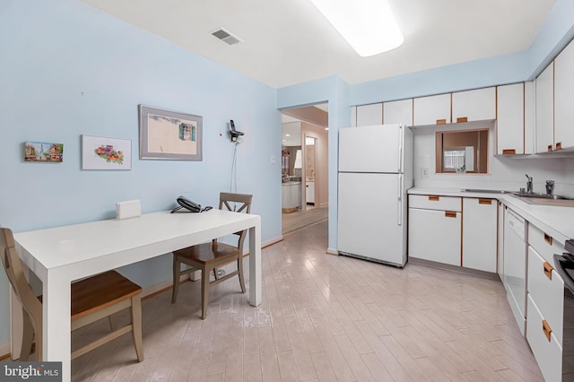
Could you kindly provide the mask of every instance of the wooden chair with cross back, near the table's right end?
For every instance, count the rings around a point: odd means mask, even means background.
[[[230,194],[221,193],[219,196],[219,209],[225,207],[229,211],[234,211],[231,204],[240,204],[237,212],[249,213],[251,211],[251,200],[253,195],[247,194]],[[236,205],[237,206],[237,205]],[[235,232],[239,236],[237,246],[230,246],[229,244],[218,243],[217,239],[213,239],[211,243],[203,243],[193,247],[179,249],[173,252],[173,290],[171,293],[171,302],[176,302],[178,299],[179,279],[182,274],[196,272],[201,270],[201,296],[202,296],[202,319],[207,316],[207,301],[209,300],[209,287],[211,285],[224,282],[225,280],[235,275],[239,276],[239,284],[241,292],[245,293],[245,282],[243,282],[243,242],[247,235],[247,230]],[[227,273],[222,277],[218,275],[219,267],[237,261],[237,271]],[[181,271],[181,264],[191,265],[185,271]],[[215,280],[210,282],[209,275],[213,271]]]

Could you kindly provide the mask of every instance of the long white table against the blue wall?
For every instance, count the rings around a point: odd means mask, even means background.
[[[249,230],[249,303],[261,303],[261,217],[211,210],[147,213],[14,234],[16,249],[43,285],[44,358],[70,372],[70,283],[176,249]],[[209,318],[208,318],[209,319]]]

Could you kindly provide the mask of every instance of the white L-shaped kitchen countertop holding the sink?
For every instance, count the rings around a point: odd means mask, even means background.
[[[488,197],[498,199],[517,212],[526,221],[543,230],[553,239],[564,245],[567,239],[574,239],[574,207],[528,204],[510,194],[472,193],[460,188],[423,188],[413,187],[408,190],[412,195],[443,195],[464,197]]]

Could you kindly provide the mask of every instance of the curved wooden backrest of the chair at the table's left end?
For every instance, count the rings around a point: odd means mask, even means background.
[[[22,304],[22,308],[28,312],[35,333],[41,334],[42,303],[38,300],[24,277],[20,257],[16,253],[12,230],[7,228],[0,228],[0,253],[2,253],[4,271],[6,271],[8,280],[12,284],[14,294]]]

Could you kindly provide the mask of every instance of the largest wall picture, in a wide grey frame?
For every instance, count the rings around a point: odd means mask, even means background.
[[[202,161],[203,117],[139,106],[140,158]]]

